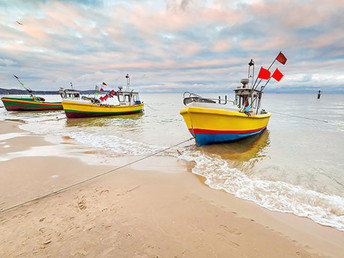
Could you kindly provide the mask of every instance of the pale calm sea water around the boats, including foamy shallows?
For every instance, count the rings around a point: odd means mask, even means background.
[[[68,137],[108,161],[142,157],[190,138],[179,114],[182,94],[142,94],[141,99],[143,114],[66,119],[63,111],[0,108],[0,120],[22,120],[22,129]],[[182,155],[176,149],[159,155],[194,162],[192,172],[205,177],[211,188],[344,231],[343,99],[344,95],[324,94],[318,100],[316,94],[265,94],[262,106],[272,116],[262,134],[202,147],[190,141],[178,147]]]

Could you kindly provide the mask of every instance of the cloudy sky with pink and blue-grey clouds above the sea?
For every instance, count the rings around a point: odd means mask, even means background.
[[[344,93],[344,1],[0,0],[0,88],[232,92],[280,51],[266,91]]]

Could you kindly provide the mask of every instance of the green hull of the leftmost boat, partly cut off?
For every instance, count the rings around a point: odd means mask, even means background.
[[[2,97],[7,111],[62,110],[61,102],[40,102],[33,98]]]

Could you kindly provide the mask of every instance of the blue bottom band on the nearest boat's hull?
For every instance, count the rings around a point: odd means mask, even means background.
[[[251,133],[235,133],[235,134],[192,134],[193,137],[195,137],[197,145],[209,145],[213,143],[220,143],[220,142],[230,142],[235,140],[240,140],[255,134],[259,134],[265,130],[259,130],[256,132]]]

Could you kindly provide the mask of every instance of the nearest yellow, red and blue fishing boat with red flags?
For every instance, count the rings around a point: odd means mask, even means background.
[[[283,54],[280,52],[280,55]],[[279,60],[278,57],[275,60],[280,61],[281,59]],[[285,64],[285,62],[286,58],[284,63],[281,63]],[[220,97],[211,99],[194,93],[184,93],[183,101],[186,107],[180,111],[180,114],[198,146],[236,141],[259,134],[266,129],[271,113],[261,108],[261,100],[263,89],[271,79],[269,70],[273,63],[269,69],[262,67],[253,83],[254,62],[251,59],[248,78],[242,79],[241,85],[234,89],[235,99],[233,101],[229,101],[227,96],[224,99]],[[276,70],[277,72],[274,72],[272,78],[279,81],[283,75],[281,76],[278,69]],[[251,85],[249,85],[249,78],[252,79]],[[261,80],[257,83],[258,79]],[[267,81],[258,89],[263,79]]]

